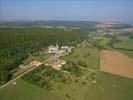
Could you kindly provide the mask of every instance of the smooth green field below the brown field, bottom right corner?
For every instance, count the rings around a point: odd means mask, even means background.
[[[88,87],[83,100],[131,100],[133,79],[98,72],[96,84]]]

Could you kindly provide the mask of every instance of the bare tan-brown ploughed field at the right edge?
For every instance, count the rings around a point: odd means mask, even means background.
[[[116,51],[102,50],[100,71],[133,78],[133,59]]]

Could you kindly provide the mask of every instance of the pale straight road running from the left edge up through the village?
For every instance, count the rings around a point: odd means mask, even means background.
[[[50,60],[53,60],[53,59],[57,59],[57,58],[59,58],[59,57],[61,57],[61,56],[64,56],[64,55],[66,55],[66,54],[60,54],[60,55],[55,55],[55,56],[53,56],[53,57],[50,57],[50,58],[48,58],[47,60],[45,60],[44,62],[42,62],[42,64],[44,64],[46,61],[50,61]],[[41,65],[42,65],[42,64],[41,64]],[[9,85],[9,84],[12,84],[12,83],[15,82],[17,79],[21,78],[22,76],[24,76],[25,74],[29,73],[30,71],[36,69],[37,67],[39,67],[39,66],[31,66],[30,69],[28,69],[27,71],[25,71],[25,72],[22,73],[21,75],[17,76],[16,78],[14,78],[14,79],[10,80],[9,82],[5,83],[4,85],[0,86],[0,89],[6,87],[6,86]]]

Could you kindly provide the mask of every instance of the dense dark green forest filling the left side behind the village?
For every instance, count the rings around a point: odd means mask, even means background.
[[[79,29],[1,28],[0,29],[0,84],[11,79],[10,71],[17,68],[29,54],[50,44],[76,45],[86,34]]]

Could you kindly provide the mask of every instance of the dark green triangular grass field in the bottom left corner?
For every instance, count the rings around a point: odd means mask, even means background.
[[[45,91],[24,80],[0,90],[0,100],[64,100],[54,93]]]

